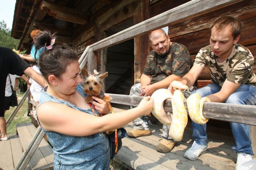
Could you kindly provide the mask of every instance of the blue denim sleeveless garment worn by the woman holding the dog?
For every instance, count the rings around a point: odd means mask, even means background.
[[[68,101],[55,98],[48,94],[46,90],[47,86],[43,89],[39,105],[44,102],[56,102],[68,105],[69,107],[80,110],[85,114],[94,115],[91,109],[82,109]],[[76,90],[85,97],[83,86],[81,84],[78,84]],[[37,122],[41,127],[38,119]],[[53,146],[54,170],[109,169],[110,150],[108,137],[105,133],[100,132],[89,136],[69,136],[45,129],[43,130],[46,133],[49,142]]]

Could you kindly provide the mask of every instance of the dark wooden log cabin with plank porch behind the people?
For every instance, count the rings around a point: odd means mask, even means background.
[[[256,1],[248,0],[23,0],[16,2],[11,36],[20,39],[20,50],[29,51],[32,30],[57,32],[56,43],[72,46],[81,56],[81,67],[108,71],[106,93],[122,96],[128,95],[130,87],[140,81],[151,50],[148,33],[156,28],[168,26],[170,40],[185,45],[194,59],[200,48],[209,44],[210,23],[218,16],[234,16],[243,24],[239,43],[250,49],[255,59],[255,5]],[[205,68],[199,77],[199,87],[209,83],[209,69]],[[128,109],[129,102],[120,101],[125,98],[120,96],[113,101],[115,111]],[[251,112],[254,120],[255,110]],[[225,120],[233,121],[223,118],[208,122],[209,149],[198,160],[183,157],[193,141],[191,123],[184,139],[170,153],[157,153],[155,147],[162,128],[157,122],[150,127],[153,135],[123,139],[123,147],[114,161],[126,169],[234,169],[234,140]],[[250,125],[256,153],[255,123]],[[126,126],[126,130],[131,128],[131,124]]]

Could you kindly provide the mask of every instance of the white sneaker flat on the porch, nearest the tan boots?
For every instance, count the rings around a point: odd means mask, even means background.
[[[194,141],[191,148],[189,148],[185,154],[184,157],[190,160],[196,160],[199,155],[206,153],[207,145],[198,145],[196,141]]]

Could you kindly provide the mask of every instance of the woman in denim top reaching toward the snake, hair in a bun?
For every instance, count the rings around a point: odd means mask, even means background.
[[[43,31],[35,43],[47,49],[39,58],[40,71],[48,86],[40,98],[37,121],[53,146],[54,170],[109,169],[109,142],[103,132],[148,115],[153,99],[145,97],[134,109],[107,114],[108,104],[94,97],[96,114],[104,115],[95,116],[84,101],[78,56],[66,45],[51,47],[53,35]]]

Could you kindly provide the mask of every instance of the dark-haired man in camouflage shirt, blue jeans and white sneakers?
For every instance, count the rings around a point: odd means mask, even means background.
[[[255,105],[256,103],[256,76],[253,73],[254,57],[251,52],[238,44],[242,25],[238,19],[230,16],[217,18],[210,26],[210,45],[201,48],[194,66],[180,81],[187,86],[194,81],[207,65],[210,69],[212,84],[197,89],[201,97],[208,97],[212,102],[230,104]],[[172,89],[172,84],[170,84]],[[250,140],[250,126],[230,122],[231,130],[236,142],[232,147],[237,153],[236,169],[242,163],[252,160]],[[206,152],[208,141],[206,124],[192,122],[194,143],[184,157],[195,160]]]

